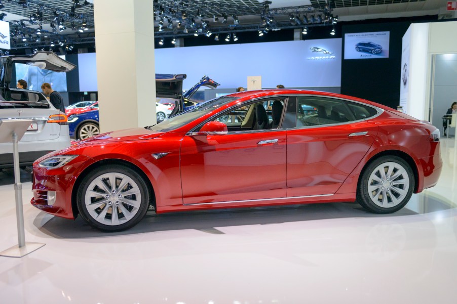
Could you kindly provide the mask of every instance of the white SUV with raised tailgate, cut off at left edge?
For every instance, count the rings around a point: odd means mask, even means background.
[[[20,166],[30,166],[37,158],[70,145],[67,117],[36,91],[10,88],[16,63],[41,69],[67,72],[75,66],[52,52],[0,57],[0,119],[31,119],[18,143]],[[13,167],[13,144],[0,143],[0,168]]]

